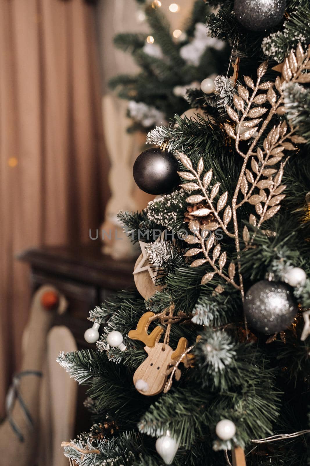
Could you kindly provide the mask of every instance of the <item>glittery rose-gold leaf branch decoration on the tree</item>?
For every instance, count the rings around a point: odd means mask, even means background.
[[[188,235],[185,241],[188,244],[195,244],[195,247],[189,249],[185,255],[192,257],[203,253],[203,259],[199,258],[191,263],[191,267],[198,267],[204,263],[211,265],[213,270],[204,275],[201,283],[207,283],[218,274],[240,290],[243,301],[244,286],[239,264],[240,236],[237,209],[244,203],[254,206],[255,212],[251,213],[249,222],[257,229],[280,209],[280,202],[285,197],[283,193],[285,185],[281,182],[284,166],[289,158],[287,151],[295,150],[294,144],[304,143],[305,140],[295,135],[294,129],[288,127],[285,120],[278,123],[277,116],[285,113],[284,86],[288,82],[310,82],[310,73],[307,72],[310,70],[309,59],[310,48],[304,53],[301,45],[298,45],[296,52],[291,51],[284,61],[282,80],[277,76],[275,82],[262,82],[267,71],[267,62],[262,63],[257,69],[256,84],[250,76],[244,76],[245,86],[238,86],[237,94],[233,98],[237,111],[227,106],[227,113],[235,124],[225,123],[224,127],[227,134],[235,140],[237,153],[244,159],[230,204],[228,204],[228,192],[220,192],[221,183],[216,182],[212,185],[212,170],[207,171],[202,177],[203,158],[199,160],[195,169],[190,158],[183,153],[177,154],[187,169],[178,172],[179,176],[187,181],[181,186],[187,191],[200,191],[199,194],[193,194],[186,199],[189,204],[203,203],[204,208],[196,210],[195,217],[199,218],[209,213],[214,217],[211,228],[209,225],[201,225],[196,219],[189,221],[189,229],[193,235]],[[274,117],[277,118],[277,123],[268,130]],[[250,139],[251,143],[247,146],[247,151],[243,152],[240,141]],[[219,198],[218,193],[220,193]],[[235,242],[238,283],[235,281],[236,265],[233,262],[227,267],[227,273],[226,268],[224,270],[227,254],[217,243],[215,232],[217,228],[221,228],[226,236]],[[248,228],[244,226],[242,238],[245,247],[251,247],[255,233],[251,238]]]

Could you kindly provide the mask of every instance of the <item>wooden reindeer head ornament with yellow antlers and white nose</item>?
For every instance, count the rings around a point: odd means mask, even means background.
[[[177,349],[173,351],[169,345],[159,343],[164,329],[157,326],[148,334],[147,329],[152,322],[153,315],[153,312],[143,314],[137,329],[130,330],[128,333],[132,340],[145,343],[144,349],[148,356],[133,374],[133,383],[139,393],[146,396],[158,395],[164,390],[170,364],[182,356],[188,344],[186,338],[181,337]]]

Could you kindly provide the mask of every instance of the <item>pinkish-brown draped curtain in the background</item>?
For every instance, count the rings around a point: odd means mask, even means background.
[[[82,0],[0,0],[0,415],[29,303],[14,254],[86,241],[103,217],[92,14]]]

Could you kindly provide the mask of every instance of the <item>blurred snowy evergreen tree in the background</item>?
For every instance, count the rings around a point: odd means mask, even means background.
[[[188,110],[187,89],[199,89],[206,70],[208,76],[222,74],[229,54],[225,41],[207,34],[204,23],[211,9],[203,1],[194,2],[184,30],[177,29],[172,34],[161,2],[139,3],[143,7],[138,9],[137,17],[147,21],[149,32],[117,34],[114,43],[132,54],[141,71],[137,75],[118,75],[110,81],[111,89],[129,100],[129,131],[151,130]]]

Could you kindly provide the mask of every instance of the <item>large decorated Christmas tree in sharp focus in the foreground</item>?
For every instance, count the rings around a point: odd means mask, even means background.
[[[160,197],[119,214],[137,290],[91,310],[96,348],[59,355],[89,385],[77,465],[310,464],[310,6],[206,3],[227,75],[149,132],[134,177]]]

